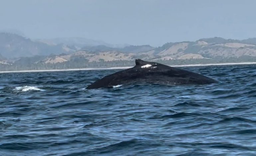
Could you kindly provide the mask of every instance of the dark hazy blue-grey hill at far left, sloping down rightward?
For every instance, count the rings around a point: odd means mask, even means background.
[[[61,54],[75,50],[64,44],[49,45],[16,34],[0,33],[0,53],[7,58]]]

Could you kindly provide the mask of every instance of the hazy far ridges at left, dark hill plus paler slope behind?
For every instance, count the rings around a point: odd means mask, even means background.
[[[34,55],[50,55],[70,53],[82,47],[106,46],[109,48],[124,47],[112,45],[104,41],[85,38],[28,39],[14,33],[0,33],[0,53],[7,58],[29,57]]]

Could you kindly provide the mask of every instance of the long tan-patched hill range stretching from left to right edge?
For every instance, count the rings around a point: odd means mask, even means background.
[[[206,42],[208,41],[208,42]],[[231,42],[236,41],[236,42]],[[222,38],[199,39],[197,41],[184,41],[166,43],[161,47],[149,45],[127,46],[124,48],[111,48],[104,45],[83,47],[81,50],[58,56],[49,56],[43,63],[63,62],[111,62],[132,61],[141,58],[149,61],[205,60],[205,62],[225,61],[252,61],[256,60],[256,44],[245,44],[238,40],[225,40]],[[75,61],[74,61],[75,60]]]

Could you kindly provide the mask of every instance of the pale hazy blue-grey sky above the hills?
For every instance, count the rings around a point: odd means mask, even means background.
[[[0,31],[150,44],[256,37],[256,0],[0,0]]]

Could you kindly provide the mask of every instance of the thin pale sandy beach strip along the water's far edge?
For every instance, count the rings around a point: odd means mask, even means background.
[[[256,64],[256,62],[211,63],[211,64],[187,64],[187,65],[169,65],[169,66],[172,66],[172,67],[193,67],[193,66],[245,65],[245,64]],[[127,68],[131,68],[131,67],[76,68],[76,69],[46,69],[46,70],[19,70],[19,71],[0,71],[0,73],[50,72],[50,71],[78,71],[78,70],[109,70],[109,69],[127,69]]]

